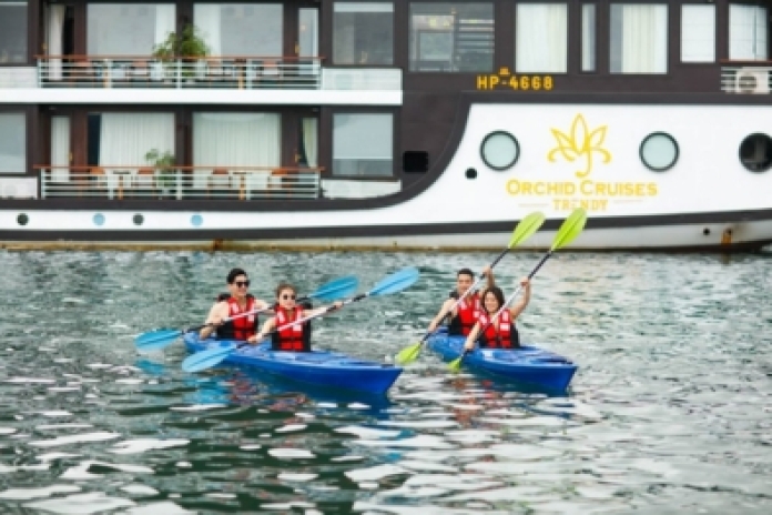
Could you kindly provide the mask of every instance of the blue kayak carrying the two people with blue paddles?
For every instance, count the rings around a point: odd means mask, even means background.
[[[194,332],[183,336],[189,352],[237,345],[233,340],[201,340]],[[270,343],[244,345],[225,357],[224,363],[252,367],[283,378],[329,388],[343,388],[383,395],[403,370],[387,363],[359,360],[346,354],[312,351],[272,351]]]

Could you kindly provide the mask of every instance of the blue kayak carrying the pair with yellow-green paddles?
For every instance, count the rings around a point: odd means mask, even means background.
[[[464,352],[466,336],[435,333],[427,340],[428,347],[444,361],[453,361]],[[510,381],[542,388],[563,391],[578,366],[569,359],[534,345],[512,350],[476,349],[463,364],[469,368],[504,376]]]

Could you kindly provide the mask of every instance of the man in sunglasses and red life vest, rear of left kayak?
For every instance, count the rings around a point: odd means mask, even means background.
[[[257,332],[260,321],[257,313],[266,311],[271,305],[255,299],[248,292],[250,277],[242,269],[233,269],[225,279],[227,294],[221,294],[206,316],[206,326],[199,334],[202,340],[216,332],[221,340],[248,340]],[[227,322],[224,322],[226,319]]]

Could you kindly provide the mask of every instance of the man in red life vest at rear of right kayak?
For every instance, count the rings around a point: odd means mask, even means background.
[[[482,270],[482,275],[488,280],[488,289],[496,285],[494,281],[494,272],[490,266]],[[469,292],[461,302],[458,299],[463,297],[475,283],[475,274],[469,269],[461,269],[456,274],[456,290],[450,292],[450,297],[443,303],[437,316],[429,324],[429,332],[435,332],[446,317],[450,319],[448,323],[449,335],[466,336],[471,331],[471,327],[477,321],[480,312],[480,299],[477,292]]]

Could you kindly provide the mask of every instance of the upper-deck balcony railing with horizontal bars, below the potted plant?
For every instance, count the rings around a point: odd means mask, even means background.
[[[318,89],[321,57],[38,55],[41,88]]]

